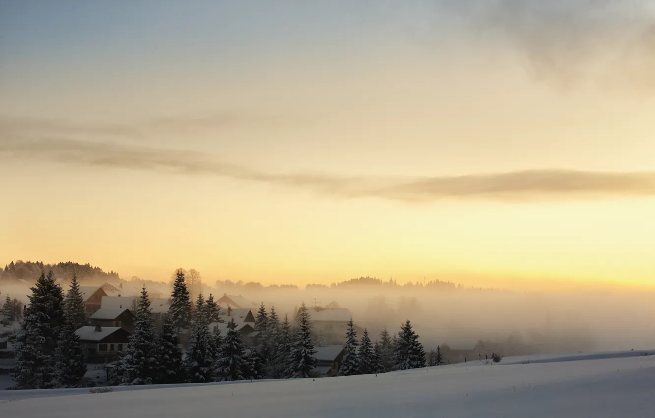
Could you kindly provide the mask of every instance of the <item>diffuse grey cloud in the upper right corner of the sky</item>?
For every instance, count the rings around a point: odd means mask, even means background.
[[[509,47],[536,81],[591,80],[655,89],[655,7],[648,0],[440,0],[434,25],[457,16],[482,46]]]

